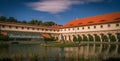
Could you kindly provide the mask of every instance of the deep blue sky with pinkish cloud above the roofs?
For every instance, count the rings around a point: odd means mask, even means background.
[[[0,16],[64,25],[77,18],[120,12],[119,6],[120,0],[0,0]]]

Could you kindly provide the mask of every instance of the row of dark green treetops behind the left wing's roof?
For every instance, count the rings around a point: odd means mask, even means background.
[[[53,26],[53,25],[56,25],[56,23],[53,22],[53,21],[45,21],[45,22],[43,22],[41,20],[36,20],[36,19],[32,19],[30,21],[26,21],[26,20],[19,21],[19,20],[17,20],[14,17],[6,18],[5,16],[0,16],[0,21],[24,23],[24,24],[31,24],[31,25],[42,25],[42,26]]]

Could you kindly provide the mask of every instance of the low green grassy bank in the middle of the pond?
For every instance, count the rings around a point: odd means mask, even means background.
[[[43,44],[43,46],[48,46],[48,47],[75,47],[77,44],[72,43],[72,42],[66,42],[66,43],[60,43],[60,42],[47,42]]]

